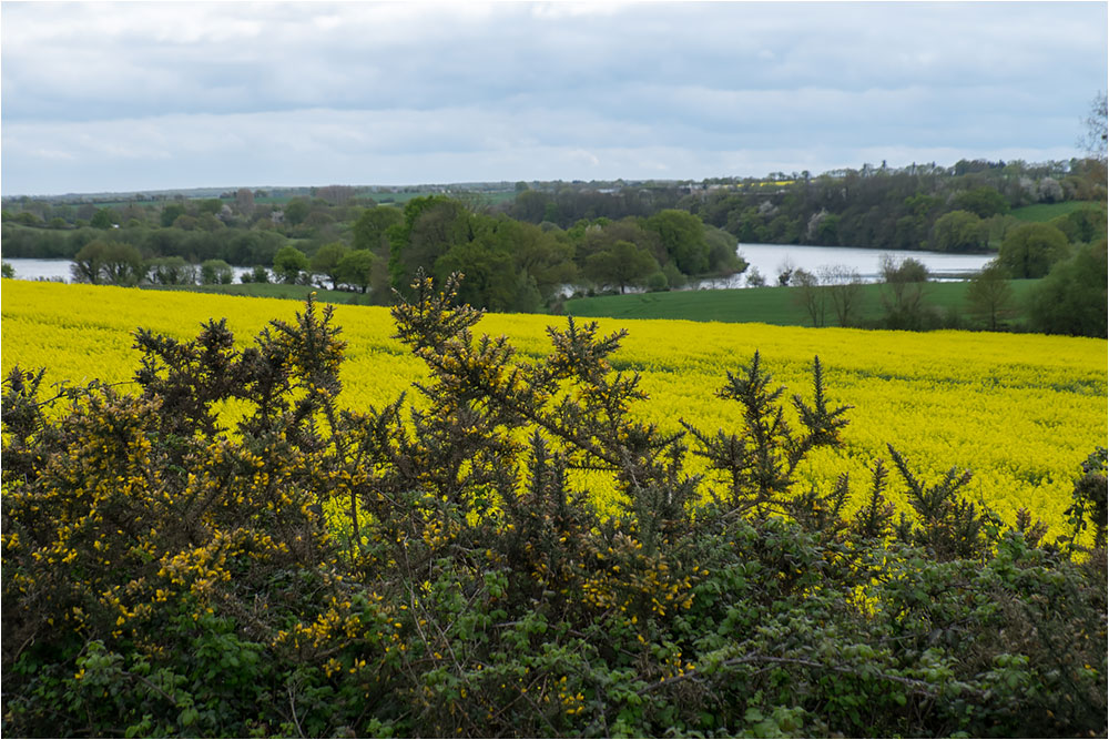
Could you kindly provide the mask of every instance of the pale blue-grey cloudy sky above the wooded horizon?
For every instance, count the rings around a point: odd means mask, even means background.
[[[0,4],[0,194],[1081,155],[1106,2]]]

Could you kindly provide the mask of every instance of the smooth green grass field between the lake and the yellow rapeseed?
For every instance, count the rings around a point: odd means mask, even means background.
[[[1028,290],[1038,281],[1011,281],[1014,303],[1020,306]],[[965,314],[967,283],[929,283],[927,301],[942,314]],[[884,313],[884,286],[863,286],[861,316],[864,324],[876,323]],[[690,321],[757,322],[779,326],[811,326],[807,312],[798,303],[797,288],[747,287],[721,291],[671,291],[633,295],[603,295],[566,302],[566,312],[574,316],[613,318],[685,318]],[[1021,321],[1018,314],[1016,321]],[[828,307],[828,325],[835,315]]]

